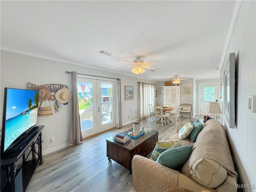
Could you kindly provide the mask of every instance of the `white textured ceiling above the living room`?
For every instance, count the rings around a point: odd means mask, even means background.
[[[1,49],[143,78],[219,78],[235,1],[1,1]],[[114,54],[97,53],[105,50]],[[134,75],[136,76],[136,75]]]

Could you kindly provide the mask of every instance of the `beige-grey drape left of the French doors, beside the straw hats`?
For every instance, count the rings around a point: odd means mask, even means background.
[[[80,126],[80,115],[78,106],[78,93],[77,93],[77,73],[73,71],[71,79],[72,86],[72,100],[71,100],[71,120],[69,128],[69,140],[68,145],[79,144],[83,141],[81,126]]]

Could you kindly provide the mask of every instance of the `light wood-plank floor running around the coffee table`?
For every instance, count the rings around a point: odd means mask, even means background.
[[[162,126],[147,118],[140,125],[158,130],[159,141],[176,133],[175,120]],[[44,163],[37,166],[26,192],[134,192],[130,171],[106,157],[106,138],[129,128],[132,124],[43,156]]]

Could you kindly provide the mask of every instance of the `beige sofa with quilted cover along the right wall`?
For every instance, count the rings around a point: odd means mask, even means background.
[[[184,123],[178,123],[178,140]],[[149,158],[135,155],[132,159],[132,181],[138,192],[163,192],[169,188],[186,188],[193,192],[236,192],[237,172],[234,169],[226,130],[217,120],[208,120],[195,142],[182,139],[182,146],[192,145],[192,152],[180,170],[174,170]],[[174,159],[170,161],[179,161]]]

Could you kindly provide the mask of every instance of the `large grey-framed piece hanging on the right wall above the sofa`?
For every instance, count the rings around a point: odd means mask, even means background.
[[[230,53],[224,70],[224,116],[229,128],[235,128],[235,53]]]

